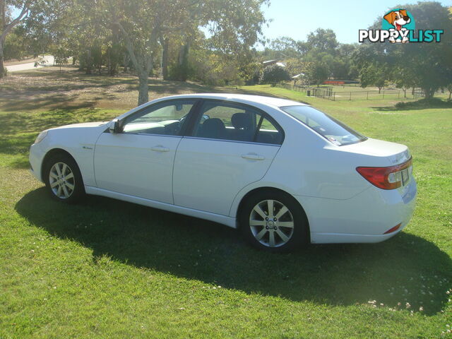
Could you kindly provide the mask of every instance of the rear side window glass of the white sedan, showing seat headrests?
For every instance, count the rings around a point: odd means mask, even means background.
[[[275,145],[281,143],[282,135],[283,133],[256,109],[224,102],[205,102],[194,129],[194,136],[199,138]]]

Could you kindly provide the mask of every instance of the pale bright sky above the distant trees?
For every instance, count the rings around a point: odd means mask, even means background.
[[[376,18],[398,4],[417,4],[417,1],[401,0],[270,0],[270,7],[263,6],[267,19],[273,19],[263,28],[268,39],[292,37],[306,41],[309,32],[317,28],[331,28],[338,42],[358,42],[358,30],[368,28]],[[452,6],[452,0],[439,1]]]

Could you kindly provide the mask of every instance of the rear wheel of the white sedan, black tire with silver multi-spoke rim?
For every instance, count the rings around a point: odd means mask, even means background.
[[[286,252],[309,243],[303,208],[282,191],[259,191],[247,197],[238,220],[244,238],[257,249]]]

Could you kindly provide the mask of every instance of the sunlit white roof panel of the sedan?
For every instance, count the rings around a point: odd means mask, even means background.
[[[266,97],[263,95],[246,95],[246,94],[234,94],[234,93],[194,93],[184,95],[172,95],[162,99],[178,99],[178,98],[201,98],[201,99],[215,99],[215,100],[227,100],[233,102],[242,102],[244,104],[264,104],[274,107],[293,106],[293,105],[305,105],[301,102],[281,99],[280,97]]]

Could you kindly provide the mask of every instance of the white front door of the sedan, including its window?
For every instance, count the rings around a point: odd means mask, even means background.
[[[174,155],[194,104],[170,100],[150,105],[120,121],[119,133],[102,133],[94,154],[97,187],[173,203]]]

